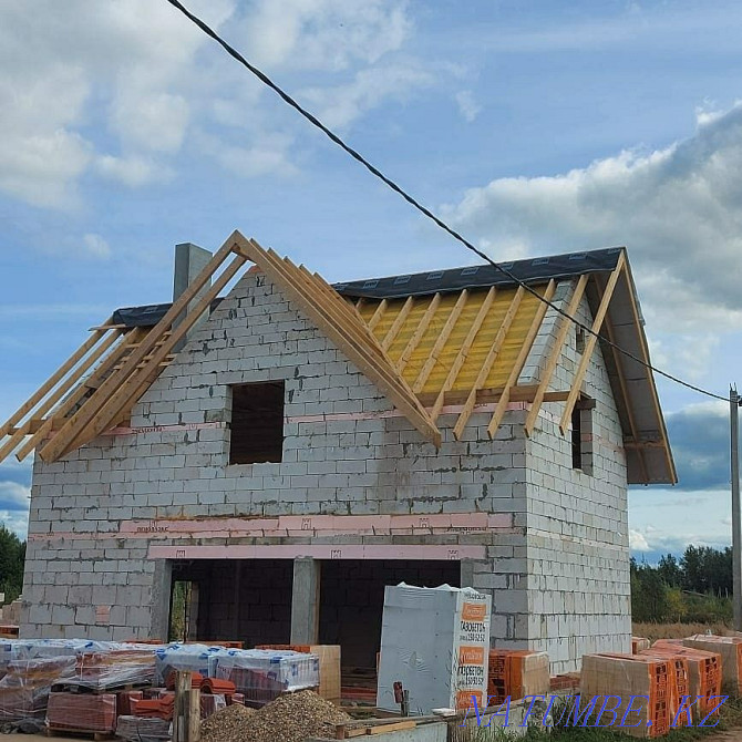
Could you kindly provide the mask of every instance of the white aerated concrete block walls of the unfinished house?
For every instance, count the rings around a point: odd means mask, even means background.
[[[549,330],[544,332],[537,343],[548,342]],[[589,383],[602,384],[594,395],[605,408],[600,414],[612,422],[599,355],[594,367]],[[569,387],[569,373],[571,368],[560,379],[563,388]],[[230,384],[275,380],[286,384],[282,462],[229,465]],[[134,427],[178,429],[102,436],[63,461],[34,463],[22,633],[162,637],[169,573],[163,560],[150,558],[150,548],[183,543],[159,528],[167,518],[503,514],[508,527],[493,532],[344,537],[353,544],[483,546],[486,558],[462,567],[462,578],[465,573],[473,587],[493,594],[498,645],[547,641],[554,616],[561,621],[558,637],[576,625],[567,626],[566,607],[539,605],[539,590],[579,592],[584,580],[624,586],[625,576],[628,585],[628,556],[626,569],[611,557],[601,567],[604,557],[580,556],[587,552],[579,542],[589,527],[585,549],[597,554],[605,544],[611,556],[624,555],[611,533],[614,523],[626,519],[618,453],[605,473],[597,458],[590,478],[564,471],[568,439],[548,429],[526,441],[525,411],[518,410],[506,414],[494,441],[486,434],[491,412],[474,414],[462,441],[452,435],[455,418],[443,415],[436,451],[392,410],[278,287],[261,274],[246,275],[134,410]],[[184,430],[189,423],[221,426]],[[609,484],[601,484],[606,477]],[[563,509],[555,515],[554,508]],[[126,527],[132,521],[152,523],[132,533]],[[199,543],[279,540],[227,536]],[[287,540],[334,543],[337,536],[291,536],[281,543]],[[586,575],[594,566],[599,576]],[[560,587],[548,587],[555,579]],[[622,606],[628,621],[626,595],[616,609]],[[580,636],[605,638],[616,628],[610,617],[617,614],[606,608],[591,604],[596,619],[577,627],[585,631]],[[571,659],[559,661],[574,666]]]

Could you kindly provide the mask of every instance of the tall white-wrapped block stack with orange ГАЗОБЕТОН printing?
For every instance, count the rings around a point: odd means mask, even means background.
[[[394,683],[412,713],[486,705],[492,598],[472,588],[388,586],[377,705],[399,711]]]

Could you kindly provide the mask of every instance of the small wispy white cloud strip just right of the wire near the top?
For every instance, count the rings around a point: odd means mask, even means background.
[[[344,128],[385,100],[406,100],[413,90],[434,82],[431,72],[411,64],[390,64],[361,70],[344,85],[305,90],[302,96],[322,123]]]

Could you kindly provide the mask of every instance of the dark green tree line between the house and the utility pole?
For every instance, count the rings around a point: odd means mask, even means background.
[[[655,567],[631,558],[635,621],[725,621],[731,595],[731,547],[688,546],[680,558],[667,554]]]

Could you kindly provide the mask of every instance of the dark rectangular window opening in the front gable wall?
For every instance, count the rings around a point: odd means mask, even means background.
[[[231,388],[230,464],[282,460],[284,398],[282,381]]]

